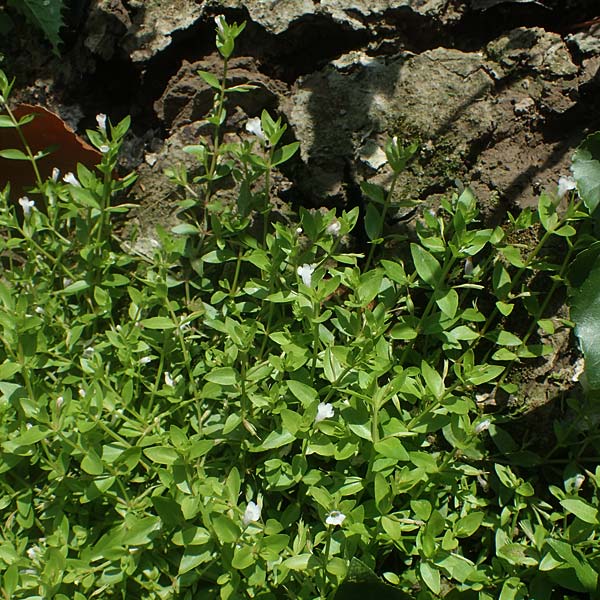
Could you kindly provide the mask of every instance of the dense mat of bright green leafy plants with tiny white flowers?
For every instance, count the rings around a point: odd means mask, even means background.
[[[88,131],[97,172],[0,194],[0,596],[600,597],[598,136],[577,190],[501,227],[466,188],[390,233],[416,151],[397,138],[364,215],[287,220],[272,175],[298,146],[267,112],[254,141],[224,135],[248,86],[227,84],[243,25],[216,23],[213,134],[187,148],[197,174],[167,173],[181,221],[151,253],[114,234],[128,119]],[[26,140],[1,153],[37,173]],[[588,393],[531,445],[501,400],[573,327],[552,313],[567,292]]]

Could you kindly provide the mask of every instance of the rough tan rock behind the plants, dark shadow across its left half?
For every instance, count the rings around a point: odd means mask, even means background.
[[[433,140],[444,154],[435,172],[407,183],[418,197],[445,181],[449,164],[489,134],[492,87],[480,54],[442,48],[390,60],[355,52],[302,78],[284,111],[301,142],[306,191],[321,199],[339,194],[358,148],[364,154],[365,146],[380,146],[389,132],[406,143]]]

